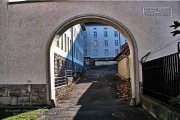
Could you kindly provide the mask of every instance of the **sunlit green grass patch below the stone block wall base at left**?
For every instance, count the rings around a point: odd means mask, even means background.
[[[13,113],[14,116],[3,118],[2,120],[36,120],[38,118],[38,115],[42,114],[44,111],[45,109],[43,108],[36,110],[6,109],[5,112]]]

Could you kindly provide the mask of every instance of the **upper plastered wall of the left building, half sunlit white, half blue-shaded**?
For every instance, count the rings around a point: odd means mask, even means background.
[[[59,55],[61,55],[63,58],[72,60],[72,54],[70,54],[70,52],[72,52],[72,49],[76,49],[75,52],[73,53],[73,61],[79,65],[84,65],[84,46],[82,44],[83,41],[83,36],[82,36],[82,29],[81,26],[75,25],[72,27],[73,31],[76,31],[73,33],[73,41],[72,41],[72,45],[71,46],[71,39],[72,39],[72,33],[71,33],[71,28],[69,28],[67,31],[65,31],[58,39],[59,41],[59,47],[57,47],[57,40],[54,40],[53,42],[55,43],[56,47],[54,48],[54,53],[57,53]],[[65,39],[66,36],[66,39]],[[63,37],[63,39],[62,39]],[[63,40],[63,45],[62,45],[62,41]],[[69,41],[69,42],[68,42]],[[68,44],[69,43],[69,44]],[[63,46],[63,49],[61,48],[61,46]],[[69,47],[68,47],[69,46]],[[75,48],[72,48],[74,47]],[[65,51],[65,47],[66,47],[66,51]],[[79,56],[77,58],[77,55]]]

